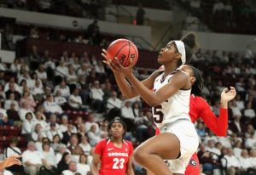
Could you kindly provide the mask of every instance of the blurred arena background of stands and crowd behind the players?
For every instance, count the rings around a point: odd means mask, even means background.
[[[122,97],[102,64],[102,48],[117,38],[134,42],[134,73],[143,80],[160,66],[160,48],[195,31],[200,49],[192,64],[203,74],[204,97],[217,116],[221,90],[237,91],[227,137],[195,123],[201,174],[256,174],[255,9],[253,0],[0,0],[2,157],[22,154],[34,141],[49,156],[43,174],[60,171],[66,150],[87,168],[80,173],[90,174],[91,152],[108,136],[109,119],[127,121],[126,138],[135,147],[153,136],[151,109],[140,98]],[[0,173],[25,174],[22,167]]]

